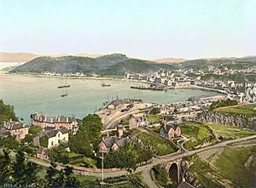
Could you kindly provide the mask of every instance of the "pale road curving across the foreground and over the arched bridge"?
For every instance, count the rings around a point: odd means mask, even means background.
[[[154,157],[151,163],[149,163],[147,165],[144,165],[144,166],[141,166],[141,167],[138,167],[135,170],[135,172],[133,172],[133,173],[142,173],[143,178],[144,178],[145,182],[148,184],[148,186],[154,188],[154,187],[157,187],[157,186],[155,186],[154,181],[150,177],[150,170],[151,170],[151,168],[154,167],[154,165],[164,163],[164,162],[172,162],[172,161],[175,161],[175,160],[183,158],[183,157],[189,157],[189,156],[195,155],[197,153],[201,153],[203,151],[209,151],[209,150],[216,149],[216,148],[221,148],[221,147],[224,147],[224,146],[227,146],[227,145],[234,145],[234,144],[244,145],[245,142],[247,142],[249,140],[256,140],[256,135],[247,136],[247,137],[240,138],[240,139],[235,139],[235,140],[226,140],[226,141],[220,142],[216,145],[209,145],[209,146],[203,147],[201,149],[197,149],[195,151],[184,151],[184,152],[181,152],[181,153],[174,153],[174,154],[168,155],[166,157]],[[31,162],[37,163],[38,165],[42,165],[44,167],[49,167],[49,162],[42,161],[42,160],[40,160],[38,158],[35,158],[35,157],[27,157],[27,159]],[[63,167],[61,165],[57,165],[57,168],[61,169]],[[84,171],[81,172],[81,173],[85,174],[85,175],[96,176],[96,177],[99,177],[99,178],[102,177],[101,173],[91,173],[91,172],[84,172]],[[118,177],[118,176],[125,175],[125,174],[127,174],[127,171],[125,171],[125,170],[118,171],[118,172],[112,172],[112,173],[104,173],[104,178]]]

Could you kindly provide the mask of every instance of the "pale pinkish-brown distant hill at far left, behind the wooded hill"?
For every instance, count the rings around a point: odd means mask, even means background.
[[[0,62],[26,62],[39,56],[29,53],[0,53]]]

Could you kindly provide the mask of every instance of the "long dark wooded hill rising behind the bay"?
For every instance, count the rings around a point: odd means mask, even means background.
[[[160,68],[172,69],[172,65],[157,64],[148,60],[137,60],[125,54],[108,54],[98,58],[81,56],[38,57],[17,66],[12,72],[55,71],[59,73],[95,72],[98,75],[121,75],[129,73],[147,73]]]

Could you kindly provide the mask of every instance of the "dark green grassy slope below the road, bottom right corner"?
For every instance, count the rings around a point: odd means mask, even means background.
[[[231,148],[227,147],[215,162],[216,168],[227,178],[245,187],[253,187],[253,170],[244,164],[256,147]]]

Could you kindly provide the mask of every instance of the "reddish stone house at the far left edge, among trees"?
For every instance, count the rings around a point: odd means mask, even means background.
[[[15,137],[16,140],[22,140],[28,134],[29,127],[23,122],[4,122],[0,129],[0,137],[7,137],[9,135]]]

